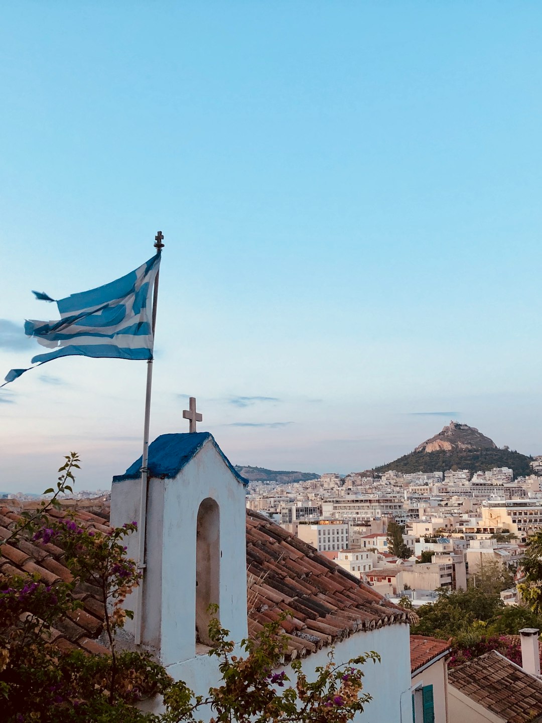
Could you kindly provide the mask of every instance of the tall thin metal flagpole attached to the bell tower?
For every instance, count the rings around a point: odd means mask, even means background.
[[[164,244],[162,231],[158,231],[155,236],[155,249],[158,254],[162,253]],[[152,351],[154,354],[154,338],[156,326],[156,307],[158,304],[158,279],[160,277],[160,268],[156,273],[155,286],[152,295]],[[141,500],[139,502],[139,555],[138,569],[141,573],[139,586],[136,589],[136,609],[135,609],[135,644],[141,644],[141,628],[143,617],[143,582],[145,580],[145,531],[147,522],[147,482],[148,473],[147,463],[149,461],[149,427],[150,427],[150,391],[152,388],[152,358],[147,361],[147,390],[145,392],[145,424],[143,425],[143,454],[141,460]]]

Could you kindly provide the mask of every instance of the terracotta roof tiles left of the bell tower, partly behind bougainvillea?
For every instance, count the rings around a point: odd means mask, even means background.
[[[65,511],[50,510],[49,515],[64,518]],[[102,532],[108,531],[107,521],[86,510],[74,512],[77,523],[82,527],[93,528]],[[0,538],[7,539],[12,534],[14,524],[21,519],[13,508],[0,508]],[[64,552],[60,547],[48,544],[33,544],[18,538],[13,544],[4,543],[0,546],[0,574],[25,575],[36,573],[47,585],[55,585],[59,581],[71,582],[72,574],[64,565]],[[69,651],[76,648],[90,653],[107,653],[108,650],[95,641],[103,628],[104,607],[100,590],[87,583],[78,583],[74,588],[74,597],[80,600],[83,607],[69,613],[69,616],[58,623],[58,628],[51,630],[50,639],[61,650]]]

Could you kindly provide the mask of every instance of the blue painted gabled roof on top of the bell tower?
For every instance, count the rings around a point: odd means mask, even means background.
[[[212,444],[215,445],[215,449],[223,458],[231,474],[239,482],[249,484],[249,480],[241,477],[233,467],[210,432],[189,432],[185,435],[160,435],[160,437],[157,437],[149,445],[149,461],[147,463],[149,476],[173,479],[199,452],[207,440],[211,440]],[[125,479],[140,479],[141,463],[142,457],[139,457],[124,474],[113,476],[113,482],[124,482]]]

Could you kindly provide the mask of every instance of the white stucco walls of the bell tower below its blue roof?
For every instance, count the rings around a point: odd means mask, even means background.
[[[139,520],[139,495],[139,480],[113,483],[113,526]],[[220,510],[220,621],[236,641],[247,633],[244,484],[207,440],[175,479],[149,480],[142,642],[165,667],[195,657],[196,524],[199,505],[207,497]],[[134,560],[138,536],[132,534],[127,541]],[[134,609],[134,594],[126,607]],[[126,631],[133,630],[134,623],[128,621]],[[168,672],[177,677],[174,669]],[[187,680],[188,675],[183,677]]]

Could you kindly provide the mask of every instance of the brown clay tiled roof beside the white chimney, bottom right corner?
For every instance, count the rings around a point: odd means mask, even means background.
[[[542,716],[542,680],[496,651],[449,670],[448,680],[507,723],[533,723]]]

